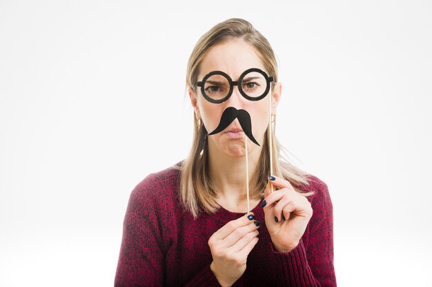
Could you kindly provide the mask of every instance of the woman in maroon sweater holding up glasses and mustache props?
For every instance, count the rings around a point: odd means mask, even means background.
[[[186,83],[190,156],[132,191],[115,286],[336,286],[326,184],[266,132],[282,91],[268,41],[242,19],[215,25]]]

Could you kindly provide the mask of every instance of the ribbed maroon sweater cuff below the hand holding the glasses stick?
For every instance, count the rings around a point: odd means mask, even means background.
[[[271,242],[270,247],[277,262],[277,274],[280,275],[280,281],[284,282],[284,286],[320,286],[313,277],[302,240],[287,253],[275,251]]]

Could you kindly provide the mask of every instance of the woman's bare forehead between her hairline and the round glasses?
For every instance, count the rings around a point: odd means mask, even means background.
[[[242,40],[231,40],[217,44],[208,50],[199,65],[198,78],[203,78],[212,71],[222,71],[235,80],[251,67],[265,71],[252,45]]]

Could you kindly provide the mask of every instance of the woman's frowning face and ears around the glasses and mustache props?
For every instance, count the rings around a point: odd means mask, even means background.
[[[198,81],[201,81],[206,74],[212,71],[222,71],[228,74],[233,81],[238,81],[239,76],[250,68],[265,70],[262,61],[259,59],[257,52],[251,45],[242,40],[232,40],[215,45],[208,50],[206,56],[199,65]],[[268,74],[268,76],[273,76]],[[189,89],[189,96],[194,107],[195,116],[201,119],[204,127],[210,133],[219,125],[222,113],[227,107],[235,109],[244,109],[251,116],[252,134],[262,146],[264,142],[264,133],[268,127],[268,100],[273,94],[273,111],[279,101],[280,84],[277,83],[271,92],[262,100],[248,100],[239,93],[237,86],[234,87],[233,94],[223,103],[210,103],[202,96],[201,89],[197,87],[196,94]],[[228,125],[226,129],[208,136],[209,151],[219,151],[226,156],[239,157],[244,156],[244,132],[239,124],[238,119]],[[260,151],[260,148],[248,139],[248,151]]]

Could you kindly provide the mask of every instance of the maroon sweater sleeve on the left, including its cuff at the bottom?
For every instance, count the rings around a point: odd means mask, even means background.
[[[130,194],[115,287],[167,285],[165,255],[173,234],[170,229],[173,222],[169,219],[174,212],[172,200],[164,191],[167,188],[158,178],[149,176]],[[184,286],[219,287],[220,284],[207,265]]]

